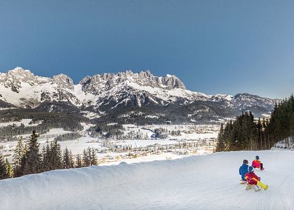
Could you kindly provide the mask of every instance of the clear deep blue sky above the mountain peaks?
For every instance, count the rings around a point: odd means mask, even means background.
[[[189,90],[294,92],[294,1],[0,0],[0,71],[149,69]]]

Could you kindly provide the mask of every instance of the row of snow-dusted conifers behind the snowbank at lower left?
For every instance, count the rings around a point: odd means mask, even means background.
[[[40,151],[38,134],[33,131],[28,144],[18,139],[13,152],[13,163],[10,165],[7,158],[4,160],[0,153],[0,179],[20,177],[27,174],[37,174],[54,169],[69,169],[98,165],[98,159],[94,148],[84,149],[82,155],[73,156],[72,152],[61,146],[57,139],[43,146]]]

